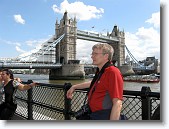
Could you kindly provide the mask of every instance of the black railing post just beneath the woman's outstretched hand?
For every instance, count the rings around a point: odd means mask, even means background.
[[[32,80],[28,80],[27,83],[32,83]],[[33,120],[33,111],[32,111],[32,88],[28,90],[28,120]]]

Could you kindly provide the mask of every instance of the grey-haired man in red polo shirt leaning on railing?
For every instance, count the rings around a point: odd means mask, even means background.
[[[89,88],[88,104],[91,120],[119,120],[123,100],[123,77],[119,69],[112,65],[114,49],[106,43],[92,47],[91,58],[98,71],[90,82],[73,85],[67,91],[72,98],[76,89]],[[102,73],[102,74],[101,74]]]

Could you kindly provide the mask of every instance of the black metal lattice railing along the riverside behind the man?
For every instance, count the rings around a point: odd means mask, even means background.
[[[16,114],[27,120],[76,120],[73,114],[83,105],[87,89],[76,90],[70,100],[66,97],[70,87],[70,83],[38,83],[38,86],[28,91],[18,90]],[[160,93],[142,87],[141,91],[124,90],[123,99],[122,114],[128,120],[151,120],[160,104]]]

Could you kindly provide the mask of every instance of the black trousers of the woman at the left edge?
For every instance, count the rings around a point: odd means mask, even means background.
[[[10,105],[6,103],[2,103],[0,105],[0,120],[9,120],[14,114],[17,105]]]

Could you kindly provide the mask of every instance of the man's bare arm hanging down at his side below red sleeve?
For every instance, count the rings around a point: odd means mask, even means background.
[[[122,100],[118,98],[113,98],[112,102],[113,102],[113,107],[110,114],[110,120],[119,120],[120,112],[122,108]]]

